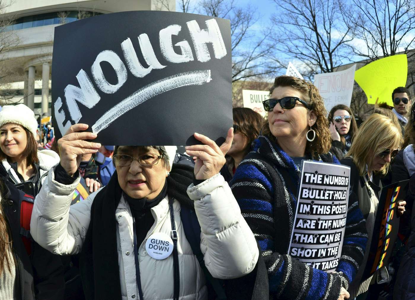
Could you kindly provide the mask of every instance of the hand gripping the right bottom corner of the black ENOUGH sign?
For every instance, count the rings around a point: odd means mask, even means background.
[[[194,136],[196,140],[199,140],[204,145],[186,146],[186,153],[196,157],[195,178],[197,180],[209,179],[219,173],[220,169],[225,165],[225,154],[232,146],[233,128],[229,128],[225,143],[220,147],[205,135],[195,133]]]

